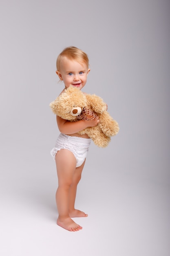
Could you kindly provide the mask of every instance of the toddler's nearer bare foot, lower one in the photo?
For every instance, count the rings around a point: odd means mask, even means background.
[[[80,229],[82,229],[82,227],[77,223],[75,223],[71,218],[66,218],[63,220],[58,218],[57,225],[69,231],[79,231]]]

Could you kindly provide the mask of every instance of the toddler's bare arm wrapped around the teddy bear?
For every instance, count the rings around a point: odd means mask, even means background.
[[[99,123],[99,117],[96,117],[89,121],[79,120],[76,122],[70,122],[68,120],[62,119],[59,116],[56,116],[56,118],[57,118],[57,126],[58,126],[60,132],[62,132],[64,134],[77,133],[81,130],[84,130],[87,127],[96,126]]]

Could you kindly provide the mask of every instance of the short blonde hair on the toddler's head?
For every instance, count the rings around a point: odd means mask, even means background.
[[[81,49],[75,46],[70,46],[70,47],[66,47],[57,57],[56,66],[58,71],[60,71],[61,60],[63,57],[66,57],[69,60],[75,60],[80,64],[85,63],[88,67],[88,55],[85,52],[83,52]]]

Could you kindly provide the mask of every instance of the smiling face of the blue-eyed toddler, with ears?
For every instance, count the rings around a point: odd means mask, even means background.
[[[62,59],[60,72],[56,71],[60,80],[64,81],[65,88],[73,85],[80,90],[86,84],[89,72],[90,69],[88,69],[85,63],[80,64],[77,61],[68,60],[66,57]]]

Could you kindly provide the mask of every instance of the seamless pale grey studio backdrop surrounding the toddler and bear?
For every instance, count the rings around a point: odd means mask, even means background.
[[[88,255],[104,255],[108,248],[107,255],[168,256],[170,2],[0,0],[0,22],[3,255],[49,255],[51,239],[60,234],[59,245],[69,236],[71,246],[70,233],[55,225],[57,177],[49,152],[59,131],[49,103],[63,88],[55,74],[57,55],[74,45],[90,59],[84,91],[101,96],[120,126],[108,148],[91,145],[77,195],[77,204],[82,203],[84,210],[89,207],[92,215],[97,211],[97,227],[104,228],[106,219],[111,224],[100,237],[93,231],[98,242],[88,241],[91,254],[82,240],[79,246]],[[85,227],[91,223],[90,231],[74,235],[78,241],[83,234],[86,239],[93,234],[96,219],[89,218],[83,221]],[[28,254],[23,254],[37,220],[34,240],[38,242],[31,242]],[[53,234],[46,245],[42,222],[46,232]],[[25,236],[21,235],[24,225]],[[115,233],[110,235],[110,229]],[[59,245],[53,244],[50,255],[65,255]]]

